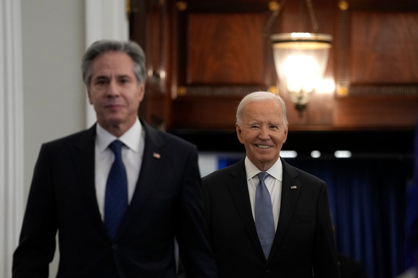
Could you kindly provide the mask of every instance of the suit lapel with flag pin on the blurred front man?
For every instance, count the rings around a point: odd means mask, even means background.
[[[120,225],[117,238],[125,233],[129,227],[133,215],[135,215],[135,212],[141,211],[145,203],[148,201],[151,192],[155,188],[154,185],[159,177],[159,173],[163,168],[161,165],[164,162],[165,156],[161,153],[161,151],[165,145],[165,142],[158,134],[158,132],[148,126],[148,124],[146,124],[142,119],[141,124],[145,130],[145,147],[141,170],[132,200]],[[161,157],[155,157],[154,153],[160,154]]]

